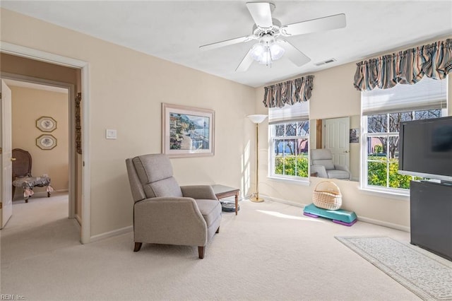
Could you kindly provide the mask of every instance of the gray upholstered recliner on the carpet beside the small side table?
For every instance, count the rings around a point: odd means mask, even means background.
[[[166,155],[126,159],[133,200],[133,236],[143,242],[198,246],[204,258],[208,240],[220,231],[221,204],[209,185],[179,187]]]

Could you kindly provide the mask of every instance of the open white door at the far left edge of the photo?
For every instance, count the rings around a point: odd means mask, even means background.
[[[13,196],[11,195],[12,189],[12,173],[13,165],[11,163],[11,89],[8,85],[1,80],[1,122],[0,122],[0,135],[1,135],[1,206],[0,206],[0,218],[1,228],[3,229],[9,218],[13,214]]]

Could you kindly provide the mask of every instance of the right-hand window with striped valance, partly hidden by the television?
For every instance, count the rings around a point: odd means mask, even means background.
[[[398,174],[400,122],[444,116],[451,71],[452,39],[357,64],[364,189],[408,194],[414,178]]]

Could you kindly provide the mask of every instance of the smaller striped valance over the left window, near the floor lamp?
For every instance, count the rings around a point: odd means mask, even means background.
[[[311,98],[314,76],[296,78],[292,81],[276,83],[264,87],[263,105],[266,107],[284,107],[297,102],[308,101]]]

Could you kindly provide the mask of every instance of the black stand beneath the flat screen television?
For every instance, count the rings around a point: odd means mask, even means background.
[[[452,261],[452,185],[411,181],[411,244]]]

